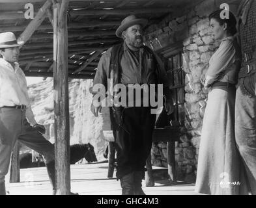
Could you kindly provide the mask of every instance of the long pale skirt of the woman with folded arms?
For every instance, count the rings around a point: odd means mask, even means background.
[[[235,87],[214,87],[201,132],[195,191],[202,194],[248,194],[235,142]]]

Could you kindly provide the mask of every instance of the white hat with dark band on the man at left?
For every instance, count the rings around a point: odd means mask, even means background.
[[[7,47],[18,47],[23,44],[23,41],[17,42],[16,36],[13,32],[0,33],[0,49]]]

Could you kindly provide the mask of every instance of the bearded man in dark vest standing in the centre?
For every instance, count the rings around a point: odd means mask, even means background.
[[[145,25],[147,19],[138,19],[134,15],[122,20],[116,35],[124,42],[114,45],[102,55],[93,85],[102,84],[107,88],[109,78],[113,79],[113,86],[121,83],[126,88],[129,88],[130,84],[163,84],[165,109],[171,114],[173,100],[168,88],[169,80],[160,59],[149,47],[143,45]],[[98,93],[92,94],[95,96]],[[121,181],[122,194],[145,194],[141,188],[141,180],[145,175],[145,163],[152,146],[156,115],[151,113],[150,105],[114,106],[109,110],[117,149],[117,179]],[[101,107],[92,103],[91,111],[94,116],[98,116]]]

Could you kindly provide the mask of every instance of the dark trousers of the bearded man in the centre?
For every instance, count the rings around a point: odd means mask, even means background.
[[[156,114],[150,107],[129,107],[122,110],[122,125],[117,129],[117,178],[135,171],[145,172],[152,147]]]

